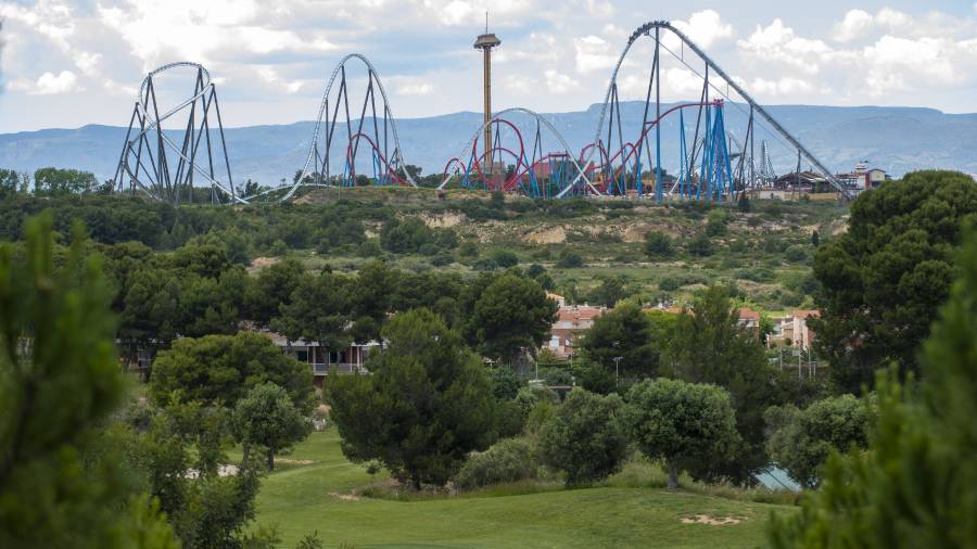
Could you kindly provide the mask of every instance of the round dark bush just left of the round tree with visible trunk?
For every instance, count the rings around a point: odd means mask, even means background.
[[[543,461],[567,473],[567,485],[586,485],[618,471],[627,450],[618,395],[578,388],[540,431]]]

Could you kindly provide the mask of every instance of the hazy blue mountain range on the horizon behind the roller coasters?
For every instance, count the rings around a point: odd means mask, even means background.
[[[662,105],[662,110],[669,105]],[[625,141],[634,140],[643,116],[644,103],[622,103],[621,118],[625,120]],[[889,174],[902,174],[922,168],[948,168],[977,174],[977,114],[946,114],[932,108],[914,107],[838,107],[810,105],[776,105],[770,113],[809,148],[826,166],[836,171],[851,170],[859,162],[867,162]],[[743,141],[748,110],[740,104],[726,103],[726,130]],[[600,105],[573,113],[551,113],[544,116],[556,127],[574,153],[594,140]],[[685,124],[689,136],[695,127],[695,111],[686,111]],[[532,148],[535,125],[525,115],[513,115],[520,127],[525,148]],[[423,168],[424,174],[441,173],[452,156],[478,130],[481,114],[456,113],[428,118],[397,120],[404,157]],[[369,122],[368,122],[369,124]],[[678,165],[678,117],[669,116],[661,126],[662,165],[674,171]],[[312,122],[281,126],[250,126],[226,129],[231,168],[236,182],[253,179],[274,184],[287,178],[305,162],[314,129]],[[606,131],[605,139],[606,139]],[[616,130],[617,131],[617,130]],[[78,168],[94,173],[100,179],[115,173],[125,138],[125,127],[90,125],[77,129],[43,129],[0,135],[0,167],[33,171],[54,166]],[[337,131],[345,133],[345,131]],[[556,140],[542,132],[544,150],[558,149]],[[616,138],[617,139],[617,138]],[[690,137],[687,138],[690,141]],[[774,137],[773,130],[756,132],[756,156],[760,156],[760,141],[769,142],[771,157],[777,171],[791,171],[796,152]],[[515,141],[512,141],[515,143]],[[337,141],[331,162],[333,173],[342,166],[345,141]],[[515,144],[512,145],[515,146]],[[367,158],[364,155],[364,158]],[[367,161],[358,168],[368,170]],[[807,165],[803,166],[807,168]],[[341,170],[340,170],[341,171]]]

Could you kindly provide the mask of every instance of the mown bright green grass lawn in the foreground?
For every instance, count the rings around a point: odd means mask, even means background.
[[[343,499],[382,474],[371,478],[343,459],[333,430],[314,433],[280,464],[262,484],[257,522],[276,525],[288,548],[314,531],[327,547],[762,547],[771,512],[789,509],[684,490],[610,487],[414,501]],[[702,514],[740,522],[682,522]]]

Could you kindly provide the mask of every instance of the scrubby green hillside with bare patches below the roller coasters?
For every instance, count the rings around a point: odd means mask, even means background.
[[[536,265],[534,273],[547,277],[534,278],[571,303],[612,305],[633,294],[646,303],[687,302],[696,290],[723,282],[739,301],[766,310],[811,306],[815,245],[843,231],[847,216],[836,203],[716,207],[471,191],[441,200],[423,189],[366,188],[315,191],[295,204],[179,209],[136,199],[22,196],[0,204],[0,237],[16,240],[24,218],[46,207],[55,209],[64,233],[72,218],[81,218],[93,240],[106,244],[137,240],[166,251],[190,240],[213,242],[252,272],[289,255],[310,269],[337,271],[376,258],[416,272],[461,274]],[[667,250],[646,253],[648,233],[664,238]]]

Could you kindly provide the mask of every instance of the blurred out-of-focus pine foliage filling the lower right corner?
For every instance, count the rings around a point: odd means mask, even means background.
[[[877,372],[867,452],[835,455],[800,514],[776,519],[775,547],[977,547],[977,234],[924,345],[925,381]]]

